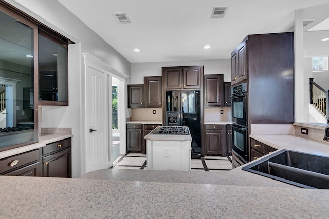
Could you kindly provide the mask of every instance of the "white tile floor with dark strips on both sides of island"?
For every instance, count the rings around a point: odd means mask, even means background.
[[[228,171],[232,169],[232,157],[205,156],[191,160],[192,171]],[[129,153],[120,155],[114,162],[114,169],[141,169],[146,170],[146,155]]]

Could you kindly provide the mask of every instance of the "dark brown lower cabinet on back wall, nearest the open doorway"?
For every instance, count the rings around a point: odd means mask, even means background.
[[[127,152],[142,151],[142,131],[142,124],[127,124]]]

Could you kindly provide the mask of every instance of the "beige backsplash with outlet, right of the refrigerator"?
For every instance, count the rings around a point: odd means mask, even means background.
[[[221,114],[223,110],[223,114]],[[205,121],[232,121],[230,107],[205,107]]]

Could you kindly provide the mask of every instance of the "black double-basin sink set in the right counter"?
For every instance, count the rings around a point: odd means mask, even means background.
[[[329,157],[282,150],[243,170],[302,188],[329,189]]]

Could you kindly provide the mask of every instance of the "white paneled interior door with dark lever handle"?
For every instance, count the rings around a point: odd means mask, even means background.
[[[87,75],[87,124],[86,172],[109,168],[108,94],[104,72],[89,67]]]

